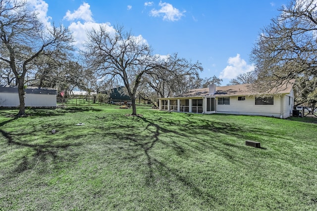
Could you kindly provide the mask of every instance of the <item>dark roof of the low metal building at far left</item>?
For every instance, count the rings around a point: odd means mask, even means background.
[[[24,89],[26,94],[57,94],[57,90],[54,88],[39,88],[39,87],[27,87]],[[17,86],[0,85],[0,93],[18,93]]]

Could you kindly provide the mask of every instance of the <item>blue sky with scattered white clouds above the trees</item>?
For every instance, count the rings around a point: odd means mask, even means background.
[[[251,49],[261,29],[288,0],[28,0],[50,26],[69,27],[80,47],[86,30],[116,24],[142,36],[155,53],[202,63],[202,78],[226,85],[253,70]]]

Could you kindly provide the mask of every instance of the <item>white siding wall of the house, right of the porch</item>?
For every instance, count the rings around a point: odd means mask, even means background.
[[[283,96],[281,95],[281,97]],[[230,105],[216,103],[216,113],[280,117],[281,97],[274,96],[273,105],[256,105],[255,97],[246,96],[246,100],[238,100],[238,96],[231,96]]]

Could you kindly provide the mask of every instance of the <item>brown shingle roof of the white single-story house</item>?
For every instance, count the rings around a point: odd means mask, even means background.
[[[227,86],[217,86],[216,92],[210,94],[208,88],[199,88],[189,90],[187,93],[178,95],[176,97],[205,97],[205,96],[247,96],[247,95],[267,95],[267,94],[287,94],[290,93],[295,80],[289,83],[283,83],[271,90],[264,93],[259,93],[253,88],[253,84],[238,84],[238,85],[227,85]]]

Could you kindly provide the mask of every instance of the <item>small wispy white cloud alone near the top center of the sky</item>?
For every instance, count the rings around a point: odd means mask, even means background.
[[[173,7],[172,4],[166,2],[159,2],[159,6],[161,7],[159,10],[152,9],[150,15],[154,17],[163,16],[163,20],[169,21],[177,21],[182,16],[184,16],[185,10],[180,12],[177,8]]]

